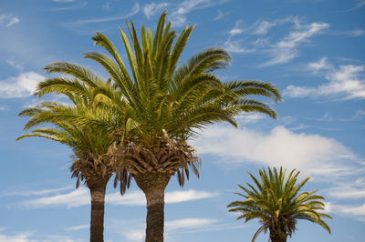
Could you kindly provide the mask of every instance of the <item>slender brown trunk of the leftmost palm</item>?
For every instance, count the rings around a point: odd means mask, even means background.
[[[90,242],[104,241],[104,203],[107,181],[88,182],[91,195]]]

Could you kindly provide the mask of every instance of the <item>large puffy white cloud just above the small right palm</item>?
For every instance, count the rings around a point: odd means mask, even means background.
[[[200,154],[218,156],[224,163],[284,166],[320,176],[346,176],[356,172],[350,166],[339,164],[346,160],[344,156],[352,153],[335,139],[295,133],[284,126],[276,126],[268,134],[214,126],[205,130],[193,145]]]

